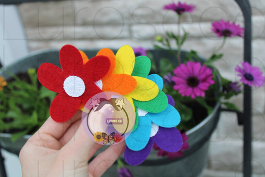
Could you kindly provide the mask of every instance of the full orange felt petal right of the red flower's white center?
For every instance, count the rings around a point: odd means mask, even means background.
[[[127,74],[113,74],[109,77],[104,77],[103,92],[116,92],[121,95],[131,93],[137,86],[136,79]]]

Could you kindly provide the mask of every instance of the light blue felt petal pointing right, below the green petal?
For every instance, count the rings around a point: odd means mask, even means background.
[[[177,110],[168,104],[168,107],[160,113],[148,113],[145,117],[161,127],[175,127],[180,122],[180,115]]]

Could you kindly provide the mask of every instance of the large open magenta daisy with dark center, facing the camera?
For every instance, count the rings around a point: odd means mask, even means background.
[[[204,97],[205,90],[214,84],[212,70],[202,65],[200,62],[187,61],[187,64],[181,63],[174,69],[176,76],[172,77],[175,81],[174,89],[178,90],[181,96],[191,96],[195,99],[197,96]]]

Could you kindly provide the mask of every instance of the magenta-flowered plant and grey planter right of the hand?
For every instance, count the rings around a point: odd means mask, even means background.
[[[128,167],[136,176],[199,176],[206,167],[209,138],[219,119],[221,105],[241,114],[229,99],[242,93],[242,85],[260,87],[265,78],[258,67],[241,62],[235,68],[240,82],[224,78],[213,62],[222,58],[219,53],[225,41],[234,36],[243,37],[244,28],[230,21],[214,21],[212,32],[222,37],[221,46],[209,58],[200,57],[196,51],[183,51],[182,45],[188,37],[183,30],[180,35],[180,17],[184,12],[192,12],[195,5],[170,3],[164,9],[177,14],[177,34],[166,32],[166,37],[156,37],[155,50],[135,48],[135,53],[151,58],[154,73],[164,78],[163,91],[175,100],[175,108],[181,115],[176,127],[182,134],[184,144],[179,152],[171,153],[156,144],[147,160],[140,166]],[[176,44],[172,46],[172,43]]]

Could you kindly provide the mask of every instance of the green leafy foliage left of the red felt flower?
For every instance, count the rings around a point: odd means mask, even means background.
[[[49,117],[56,93],[38,84],[36,69],[27,71],[29,81],[12,75],[0,91],[0,132],[12,132],[12,140],[33,133]]]

